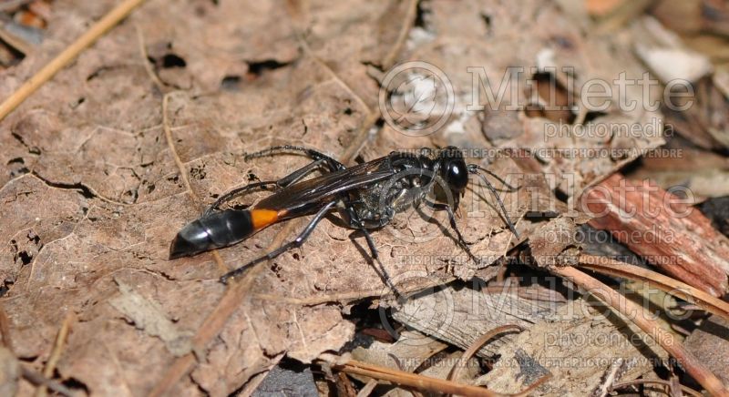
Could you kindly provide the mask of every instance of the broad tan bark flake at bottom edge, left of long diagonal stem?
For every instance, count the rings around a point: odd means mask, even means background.
[[[572,300],[553,317],[514,337],[498,353],[491,372],[477,379],[494,392],[519,392],[545,374],[551,378],[539,386],[539,395],[585,395],[600,383],[614,361],[627,363],[621,381],[651,372],[656,360],[668,357],[631,321],[585,300]],[[606,309],[606,310],[602,310]]]

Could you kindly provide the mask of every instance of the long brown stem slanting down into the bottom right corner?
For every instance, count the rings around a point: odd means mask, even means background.
[[[665,351],[673,356],[673,358],[679,361],[686,372],[688,372],[693,379],[696,380],[696,382],[699,382],[699,384],[701,384],[707,392],[710,392],[715,396],[729,397],[729,390],[727,390],[722,382],[714,376],[714,373],[709,371],[701,361],[693,356],[691,352],[686,351],[681,342],[677,341],[675,337],[673,337],[672,333],[664,331],[655,321],[652,321],[646,314],[645,310],[642,310],[641,306],[631,300],[625,299],[624,296],[601,283],[601,281],[596,280],[575,268],[552,267],[549,268],[549,271],[562,278],[570,280],[585,290],[588,290],[591,295],[606,302],[612,308],[618,310],[622,315],[627,317],[630,321],[634,322],[642,331],[650,335],[653,340],[657,341]]]

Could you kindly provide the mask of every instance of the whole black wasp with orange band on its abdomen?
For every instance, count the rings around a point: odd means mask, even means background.
[[[383,158],[350,168],[316,150],[289,145],[268,148],[250,154],[246,159],[292,151],[303,153],[312,158],[313,162],[279,180],[255,182],[222,195],[203,212],[200,219],[193,220],[180,230],[172,241],[169,258],[227,247],[248,239],[276,222],[313,214],[313,218],[296,239],[225,274],[221,281],[226,282],[262,260],[271,260],[288,249],[301,246],[319,221],[338,209],[340,216],[350,227],[362,231],[372,258],[376,260],[377,249],[369,230],[385,226],[397,212],[426,202],[434,209],[447,211],[459,246],[466,250],[470,258],[475,259],[457,228],[454,216],[459,198],[465,193],[468,174],[481,178],[497,199],[508,228],[519,238],[496,189],[482,173],[497,178],[508,187],[508,191],[513,191],[514,188],[486,168],[477,164],[467,165],[458,148],[422,148],[417,153],[392,152]],[[316,169],[321,170],[323,175],[303,179]],[[254,188],[272,188],[273,193],[249,209],[219,209],[224,202]],[[430,192],[434,193],[436,202],[429,201]]]

